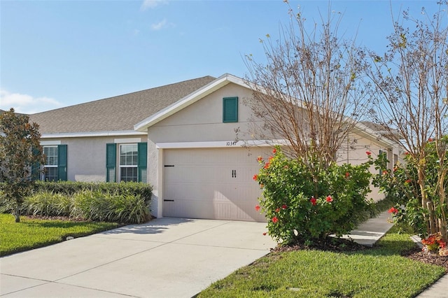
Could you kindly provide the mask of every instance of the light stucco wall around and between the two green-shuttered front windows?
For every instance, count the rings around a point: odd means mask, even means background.
[[[67,180],[83,182],[106,181],[106,143],[135,143],[134,139],[146,141],[146,136],[103,136],[41,140],[48,144],[58,142],[67,145]]]

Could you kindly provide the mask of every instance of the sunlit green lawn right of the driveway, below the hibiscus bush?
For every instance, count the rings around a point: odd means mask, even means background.
[[[370,250],[270,253],[217,281],[198,297],[415,297],[444,274],[400,252],[414,247],[391,229]]]

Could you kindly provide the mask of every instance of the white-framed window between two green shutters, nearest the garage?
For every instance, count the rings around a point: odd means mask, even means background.
[[[106,181],[146,183],[147,151],[147,143],[106,144]]]

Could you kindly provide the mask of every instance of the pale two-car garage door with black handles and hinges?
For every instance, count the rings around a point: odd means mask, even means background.
[[[265,222],[253,175],[265,148],[164,150],[163,216]]]

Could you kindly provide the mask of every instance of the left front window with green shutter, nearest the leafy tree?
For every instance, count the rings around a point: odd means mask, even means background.
[[[43,146],[45,164],[43,164],[42,180],[67,180],[67,146]]]

